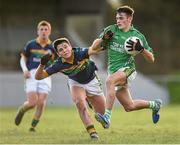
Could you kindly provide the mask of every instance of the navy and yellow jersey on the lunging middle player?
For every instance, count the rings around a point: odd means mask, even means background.
[[[46,69],[46,72],[49,75],[61,72],[81,84],[86,84],[94,79],[97,67],[89,59],[88,49],[73,48],[72,55],[71,62],[66,62],[65,59],[59,57],[51,67]]]

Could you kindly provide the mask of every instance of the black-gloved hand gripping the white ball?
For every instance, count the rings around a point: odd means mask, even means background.
[[[131,48],[131,50],[129,50],[129,51],[136,50],[136,51],[139,51],[139,52],[141,53],[141,52],[143,52],[143,50],[144,50],[144,47],[141,45],[139,39],[137,39],[137,42],[134,42],[134,41],[132,41],[132,40],[129,40],[129,41],[127,42],[127,44],[128,44],[128,45],[127,45],[126,47]]]

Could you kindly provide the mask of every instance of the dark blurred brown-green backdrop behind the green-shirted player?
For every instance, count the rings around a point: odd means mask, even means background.
[[[153,48],[156,62],[148,64],[137,56],[138,70],[148,74],[168,74],[180,69],[180,1],[122,0],[135,10],[133,25]],[[115,12],[108,7],[106,24],[115,23]]]

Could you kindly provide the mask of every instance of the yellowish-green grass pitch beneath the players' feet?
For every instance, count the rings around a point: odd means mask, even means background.
[[[180,144],[180,105],[165,106],[154,125],[150,110],[113,110],[111,126],[103,129],[93,118],[100,139],[91,141],[75,108],[46,108],[36,132],[29,132],[33,111],[14,125],[16,109],[0,109],[1,144]]]

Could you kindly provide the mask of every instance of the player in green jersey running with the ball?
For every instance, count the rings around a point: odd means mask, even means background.
[[[115,97],[124,107],[125,111],[134,111],[144,108],[152,109],[152,119],[154,123],[159,120],[159,110],[161,100],[154,101],[133,100],[128,85],[136,76],[135,60],[124,49],[125,41],[132,36],[138,37],[142,41],[128,41],[128,46],[139,53],[149,62],[154,63],[152,48],[149,47],[145,37],[132,26],[134,10],[129,6],[122,6],[117,9],[116,24],[110,25],[100,34],[102,46],[108,53],[108,73],[106,80],[107,101],[105,114],[97,113],[95,118],[104,128],[109,128],[112,108]]]

